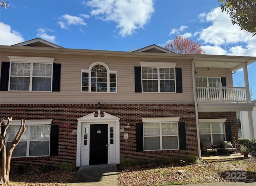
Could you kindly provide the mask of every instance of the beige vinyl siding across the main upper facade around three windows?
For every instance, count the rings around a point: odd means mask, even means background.
[[[61,63],[60,92],[1,91],[1,103],[193,103],[191,60],[158,59],[155,57],[111,57],[88,55],[66,55],[60,53],[1,53],[1,61],[7,56],[54,57],[54,63]],[[110,70],[117,71],[117,92],[81,92],[81,69],[101,61]],[[140,61],[174,62],[182,68],[183,93],[135,93],[134,67]]]

